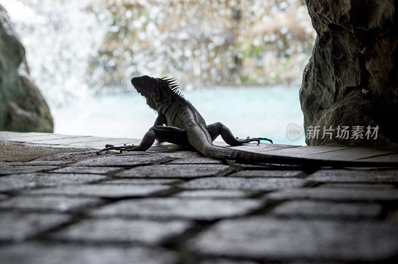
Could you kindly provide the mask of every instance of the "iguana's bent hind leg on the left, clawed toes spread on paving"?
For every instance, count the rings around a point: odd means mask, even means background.
[[[149,129],[148,132],[145,133],[139,145],[128,145],[119,147],[115,147],[113,145],[105,145],[105,148],[97,151],[97,154],[100,154],[100,152],[107,150],[120,150],[120,153],[123,151],[145,151],[152,146],[153,142],[155,142],[155,139],[157,138],[173,144],[188,146],[187,132],[185,132],[184,130],[175,127],[153,126]]]

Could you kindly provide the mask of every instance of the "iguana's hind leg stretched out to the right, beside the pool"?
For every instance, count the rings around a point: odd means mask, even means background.
[[[233,136],[232,132],[220,122],[206,126],[206,130],[210,134],[212,140],[214,140],[218,135],[221,135],[222,139],[224,139],[224,141],[231,146],[239,146],[253,141],[257,141],[258,144],[260,144],[260,140],[268,140],[272,143],[272,140],[266,137],[237,139]]]

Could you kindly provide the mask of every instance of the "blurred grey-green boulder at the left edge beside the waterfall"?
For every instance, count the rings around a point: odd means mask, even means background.
[[[0,5],[0,131],[53,132],[50,110],[29,76],[25,49]]]

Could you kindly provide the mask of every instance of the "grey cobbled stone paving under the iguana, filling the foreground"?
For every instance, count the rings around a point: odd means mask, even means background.
[[[398,261],[398,168],[243,164],[165,143],[95,153],[139,141],[0,132],[0,263]],[[398,160],[366,148],[234,148]]]

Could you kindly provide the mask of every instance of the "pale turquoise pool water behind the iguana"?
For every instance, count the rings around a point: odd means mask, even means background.
[[[261,136],[274,143],[305,145],[303,136],[287,137],[289,124],[303,123],[298,87],[222,87],[183,94],[207,124],[221,122],[239,138]],[[141,138],[157,117],[135,92],[92,95],[52,113],[56,133],[106,137]]]

